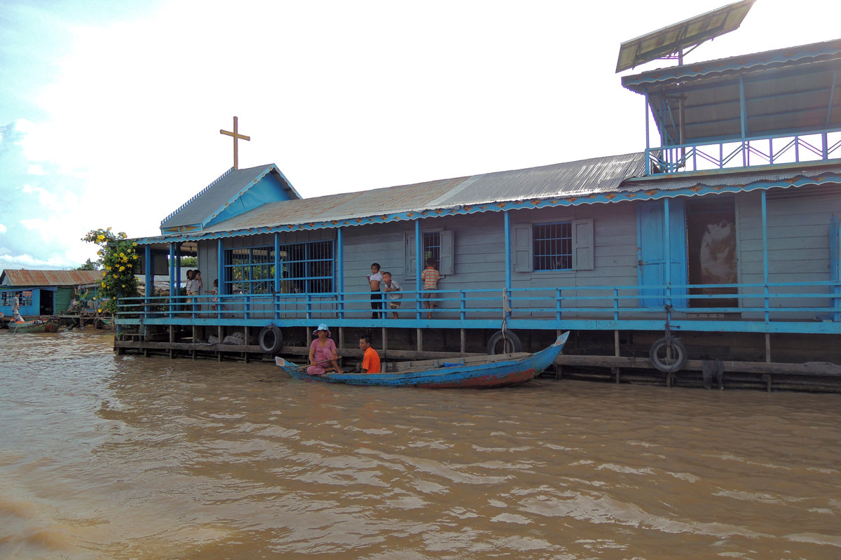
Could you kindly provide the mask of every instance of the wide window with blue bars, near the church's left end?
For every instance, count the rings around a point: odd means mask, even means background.
[[[225,287],[229,294],[271,294],[276,263],[281,293],[333,291],[333,242],[288,243],[274,247],[225,249]]]

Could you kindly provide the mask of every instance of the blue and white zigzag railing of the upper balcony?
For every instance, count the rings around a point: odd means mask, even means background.
[[[649,175],[736,169],[841,158],[841,128],[649,148]]]

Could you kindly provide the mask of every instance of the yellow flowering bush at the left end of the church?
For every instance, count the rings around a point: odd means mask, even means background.
[[[100,247],[97,251],[100,256],[98,265],[104,270],[99,295],[108,298],[103,307],[112,313],[117,311],[118,298],[137,296],[137,279],[132,270],[137,260],[137,243],[128,241],[126,237],[124,232],[112,233],[111,228],[100,228],[87,232],[82,238],[82,241],[96,243]]]

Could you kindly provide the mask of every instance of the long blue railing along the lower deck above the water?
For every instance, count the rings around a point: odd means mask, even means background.
[[[505,320],[511,329],[660,330],[668,304],[677,330],[841,334],[841,296],[833,293],[839,287],[837,281],[822,281],[435,290],[431,300],[404,291],[399,309],[378,311],[378,318],[371,317],[370,291],[137,297],[119,301],[117,324],[498,328]],[[692,293],[718,288],[736,293]],[[426,309],[426,301],[436,307]],[[675,301],[689,303],[674,306]],[[692,301],[706,303],[692,306]],[[389,318],[394,311],[399,318]]]

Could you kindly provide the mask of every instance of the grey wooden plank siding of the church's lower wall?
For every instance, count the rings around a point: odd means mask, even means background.
[[[841,213],[841,187],[826,188],[822,191],[812,189],[789,189],[771,192],[768,196],[768,246],[770,282],[798,282],[829,280],[829,223],[833,214]],[[717,195],[706,195],[717,196]],[[726,195],[732,196],[732,195]],[[762,220],[761,196],[759,191],[743,192],[735,196],[737,222],[738,281],[761,285],[763,282]],[[605,318],[613,309],[613,286],[636,286],[639,278],[637,266],[637,201],[620,201],[611,204],[585,204],[575,207],[547,207],[510,211],[510,247],[515,244],[514,233],[517,226],[541,222],[592,222],[592,267],[581,270],[533,270],[519,272],[512,270],[511,301],[514,317],[552,318],[555,316],[555,303],[558,290],[563,297],[592,298],[579,301],[563,301],[561,312],[564,318]],[[441,297],[449,301],[438,304],[439,318],[456,318],[458,311],[458,290],[465,290],[469,298],[465,304],[467,318],[495,317],[503,303],[505,288],[505,214],[502,212],[484,212],[446,217],[427,217],[421,219],[421,232],[449,231],[453,237],[453,273],[442,275],[440,290],[448,293]],[[403,290],[401,312],[415,311],[414,294],[418,289],[415,274],[407,274],[406,236],[414,236],[415,222],[367,223],[341,230],[343,247],[341,267],[336,265],[336,272],[343,271],[342,283],[346,293],[343,311],[346,317],[363,318],[371,312],[367,295],[368,280],[373,262],[378,262],[382,270],[389,270]],[[302,230],[279,234],[279,243],[305,243],[310,241],[336,241],[338,235],[334,229]],[[256,246],[273,247],[274,234],[258,234],[225,238],[225,249],[248,248]],[[204,292],[211,289],[218,274],[218,242],[216,240],[198,243],[198,268],[203,272]],[[339,248],[336,246],[336,258]],[[513,259],[513,256],[512,256]],[[334,290],[340,286],[336,278]],[[221,284],[221,282],[220,282]],[[605,288],[595,290],[595,288]],[[476,290],[488,290],[478,294]],[[532,290],[526,301],[524,291]],[[783,290],[783,289],[772,289]],[[828,286],[796,286],[785,288],[793,294],[829,293]],[[744,287],[740,289],[739,305],[742,307],[760,307],[764,305],[762,287]],[[251,296],[249,318],[270,318],[276,307],[267,296]],[[620,292],[620,308],[636,308],[639,304],[637,290],[628,289]],[[484,301],[480,298],[486,298]],[[539,305],[533,298],[543,298]],[[241,303],[243,300],[232,301]],[[277,311],[281,317],[304,317],[304,303],[307,296],[292,296],[283,293],[279,298]],[[320,302],[323,301],[323,302]],[[780,298],[771,301],[772,307],[829,306],[830,298],[821,296],[806,298]],[[518,311],[526,306],[539,306],[541,309]],[[590,311],[574,311],[574,308],[601,308],[598,314]],[[493,308],[493,311],[487,308]],[[309,309],[318,311],[320,317],[337,317],[335,299],[323,298],[318,294],[309,296]],[[330,309],[325,314],[323,310]],[[473,310],[473,312],[471,312]],[[484,310],[484,311],[479,311]],[[737,310],[734,310],[737,311]],[[698,309],[695,313],[703,313]],[[518,314],[519,313],[519,314]],[[820,315],[820,313],[817,313]],[[762,319],[761,312],[744,311],[744,319]],[[785,319],[813,320],[814,311],[785,313]],[[406,318],[410,318],[408,315]],[[783,317],[780,314],[780,317]]]

